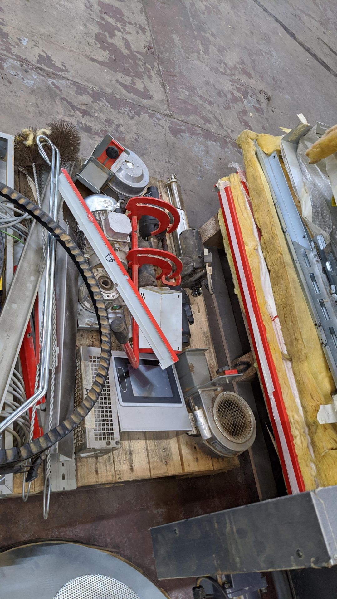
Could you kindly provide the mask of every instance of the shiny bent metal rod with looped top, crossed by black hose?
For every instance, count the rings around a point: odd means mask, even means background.
[[[52,149],[52,161],[49,160],[42,143],[47,143]],[[60,169],[60,153],[54,144],[46,135],[38,135],[37,137],[38,150],[43,156],[47,164],[50,165],[50,195],[49,195],[49,215],[53,220],[57,220],[58,216],[58,191],[59,191],[59,169]],[[56,164],[55,164],[56,156]],[[49,382],[49,360],[50,360],[50,337],[52,334],[52,316],[53,316],[53,287],[55,274],[55,244],[56,240],[50,233],[47,235],[46,247],[46,287],[44,289],[44,314],[43,314],[43,334],[40,349],[40,380],[38,389],[34,395],[22,404],[15,412],[11,413],[0,423],[0,434],[2,431],[11,425],[14,420],[19,418],[26,410],[34,406],[37,401],[41,400],[47,394]]]

